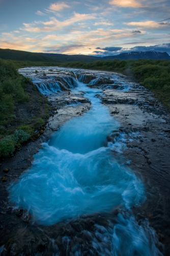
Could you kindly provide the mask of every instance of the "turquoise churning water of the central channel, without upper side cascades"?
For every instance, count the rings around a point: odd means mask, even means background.
[[[102,90],[77,81],[72,91],[83,91],[91,109],[67,121],[43,143],[32,167],[11,186],[11,201],[43,225],[123,209],[128,214],[119,213],[109,228],[96,225],[95,237],[89,235],[93,248],[99,255],[162,255],[147,220],[139,225],[130,210],[145,201],[145,189],[128,165],[114,157],[114,145],[107,143],[107,135],[120,124],[95,97]],[[70,255],[83,254],[75,247]]]

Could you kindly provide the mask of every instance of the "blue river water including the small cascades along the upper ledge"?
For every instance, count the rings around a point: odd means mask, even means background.
[[[98,88],[89,87],[82,71],[79,74],[77,69],[62,68],[47,74],[47,79],[42,82],[44,78],[40,73],[48,69],[37,70],[38,77],[35,77],[34,68],[30,73],[29,68],[22,69],[21,73],[29,74],[41,93],[57,98],[64,86],[75,95],[81,93],[88,98],[91,108],[66,121],[48,141],[43,142],[32,167],[10,186],[10,201],[15,207],[27,209],[33,216],[32,223],[41,226],[53,228],[58,223],[92,218],[92,229],[83,228],[80,222],[84,244],[91,244],[89,252],[81,242],[73,243],[78,233],[63,237],[63,244],[67,244],[65,255],[163,255],[149,220],[145,218],[137,222],[132,211],[145,202],[146,189],[131,169],[129,159],[124,161],[123,151],[127,141],[138,140],[139,133],[135,131],[128,138],[121,133],[116,140],[108,142],[107,136],[118,133],[121,124],[101,103],[102,83]],[[58,76],[60,80],[52,82]],[[112,84],[118,84],[117,91],[120,87],[123,91],[131,87],[124,80],[120,83],[117,75],[111,78],[106,73],[103,79],[114,80]],[[88,84],[96,84],[99,80],[93,77]],[[108,82],[105,87],[109,89],[110,86]],[[98,221],[95,222],[95,218]],[[52,246],[55,255],[64,255],[57,243],[53,242]]]

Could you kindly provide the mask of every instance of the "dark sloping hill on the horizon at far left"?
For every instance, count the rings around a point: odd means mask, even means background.
[[[41,62],[55,62],[53,59],[48,57],[24,52],[23,50],[11,50],[11,49],[1,49],[0,48],[0,58],[4,60],[16,60],[16,61],[41,61]]]

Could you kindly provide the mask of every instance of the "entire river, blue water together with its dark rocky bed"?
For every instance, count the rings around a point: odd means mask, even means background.
[[[168,111],[121,74],[20,72],[56,111],[36,150],[2,164],[18,161],[1,201],[2,253],[168,255]]]

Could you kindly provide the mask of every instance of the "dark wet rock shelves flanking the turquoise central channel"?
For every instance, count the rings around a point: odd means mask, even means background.
[[[64,73],[68,75],[68,70],[64,70],[60,75]],[[111,143],[110,154],[121,166],[130,168],[145,184],[147,200],[140,207],[132,207],[132,210],[139,225],[143,226],[146,219],[146,231],[149,228],[147,225],[155,229],[157,235],[153,232],[150,242],[156,244],[164,255],[168,255],[168,110],[149,90],[124,75],[79,70],[79,80],[90,83],[89,90],[94,87],[102,90],[102,94],[96,92],[96,96],[109,109],[110,115],[119,121],[117,131],[112,131],[107,137],[108,143]],[[117,208],[106,214],[89,214],[52,226],[44,226],[34,222],[34,216],[27,210],[13,208],[8,201],[9,185],[17,181],[20,174],[32,166],[33,156],[38,152],[41,143],[47,141],[52,132],[58,131],[67,120],[83,115],[91,109],[91,104],[84,98],[83,92],[59,92],[56,95],[48,95],[48,100],[51,107],[56,110],[49,118],[44,134],[35,142],[20,148],[13,158],[6,158],[1,166],[1,178],[4,175],[3,170],[10,169],[6,174],[7,182],[1,186],[0,246],[5,245],[2,255],[37,252],[43,252],[44,255],[59,252],[61,255],[69,255],[71,252],[75,254],[78,250],[88,255],[97,253],[99,248],[94,246],[94,241],[97,241],[102,251],[102,246],[106,246],[103,243],[104,239],[112,239],[112,234],[109,233],[110,225],[114,227],[118,224],[119,214],[123,213],[121,208]],[[124,217],[128,214],[131,213],[126,213]],[[147,219],[150,224],[147,224]]]

